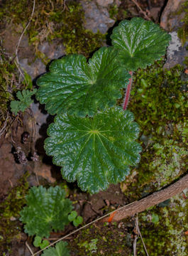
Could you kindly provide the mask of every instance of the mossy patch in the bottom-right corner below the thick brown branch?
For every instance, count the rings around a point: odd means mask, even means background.
[[[152,221],[153,214],[159,218],[157,223]],[[177,256],[186,256],[188,254],[187,218],[188,203],[181,194],[171,198],[169,206],[155,206],[152,210],[141,213],[139,215],[140,232],[148,254],[167,256],[173,253]],[[137,245],[138,255],[145,255],[140,240]]]

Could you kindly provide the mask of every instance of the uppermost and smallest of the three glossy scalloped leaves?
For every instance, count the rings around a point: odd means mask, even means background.
[[[143,18],[121,21],[111,35],[119,60],[128,70],[146,68],[165,55],[171,36],[160,26]]]

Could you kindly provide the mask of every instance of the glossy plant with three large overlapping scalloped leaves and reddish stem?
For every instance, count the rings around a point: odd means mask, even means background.
[[[112,33],[112,45],[97,50],[87,62],[83,55],[54,60],[42,75],[36,97],[50,114],[45,150],[62,176],[82,191],[97,193],[123,181],[140,161],[135,142],[139,128],[126,110],[133,72],[165,55],[170,35],[151,21],[122,21]],[[126,87],[123,110],[116,107]]]

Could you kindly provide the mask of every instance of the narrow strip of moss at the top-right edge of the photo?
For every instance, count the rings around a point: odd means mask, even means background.
[[[178,29],[177,35],[184,44],[188,40],[188,1],[182,3],[182,6],[180,7],[178,14],[181,14],[182,12],[184,12],[184,18],[182,19],[183,25],[181,28]]]

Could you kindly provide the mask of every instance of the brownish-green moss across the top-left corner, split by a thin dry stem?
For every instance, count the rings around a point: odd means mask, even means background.
[[[0,16],[2,18],[6,14],[4,22],[25,27],[32,9],[32,1],[10,0],[4,4]],[[88,57],[89,53],[101,46],[104,35],[85,30],[83,23],[84,11],[76,1],[69,1],[64,6],[64,1],[48,0],[44,5],[40,0],[36,1],[32,22],[26,33],[36,51],[39,43],[61,38],[67,54],[82,53]]]

